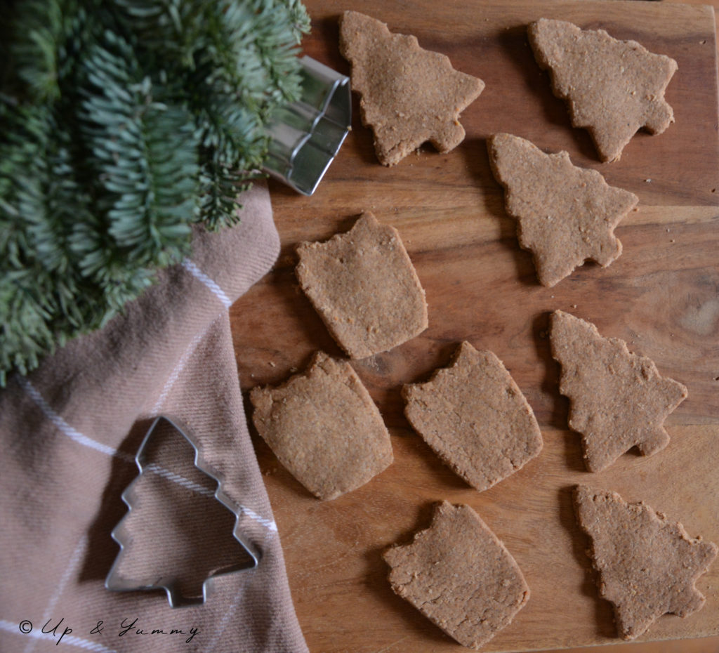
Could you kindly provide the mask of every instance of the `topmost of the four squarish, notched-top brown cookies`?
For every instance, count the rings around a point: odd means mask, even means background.
[[[386,352],[427,328],[424,291],[399,233],[371,213],[297,253],[300,286],[349,357]]]

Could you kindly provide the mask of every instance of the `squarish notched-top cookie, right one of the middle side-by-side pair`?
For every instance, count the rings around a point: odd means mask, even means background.
[[[405,414],[439,457],[477,490],[521,469],[542,448],[520,389],[492,352],[462,342],[449,367],[402,388]]]

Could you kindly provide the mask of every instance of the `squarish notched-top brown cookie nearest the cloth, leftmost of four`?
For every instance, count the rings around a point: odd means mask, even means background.
[[[380,411],[347,361],[316,352],[305,373],[249,399],[262,439],[318,498],[359,488],[393,460]]]

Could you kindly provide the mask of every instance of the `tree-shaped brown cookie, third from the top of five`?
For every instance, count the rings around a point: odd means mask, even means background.
[[[542,285],[554,286],[587,259],[606,267],[621,254],[614,229],[636,206],[636,195],[572,165],[567,152],[544,154],[511,134],[494,134],[487,148],[506,210],[518,221],[519,244],[531,250]]]

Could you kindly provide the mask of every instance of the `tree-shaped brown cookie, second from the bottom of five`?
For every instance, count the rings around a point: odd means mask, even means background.
[[[562,365],[559,391],[569,397],[569,426],[582,434],[585,463],[600,472],[637,447],[654,454],[669,444],[662,424],[687,388],[661,376],[626,342],[564,311],[551,315],[551,352]]]

